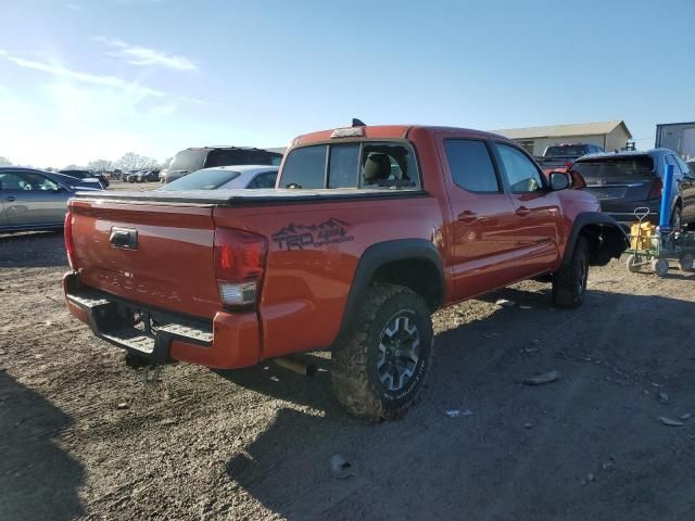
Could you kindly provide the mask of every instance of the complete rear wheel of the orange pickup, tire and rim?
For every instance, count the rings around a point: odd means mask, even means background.
[[[356,417],[399,418],[415,402],[430,364],[430,312],[408,288],[377,284],[369,288],[356,323],[332,351],[336,395]]]

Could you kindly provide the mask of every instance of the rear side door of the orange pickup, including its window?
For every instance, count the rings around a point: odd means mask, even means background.
[[[453,212],[450,251],[456,298],[507,285],[516,277],[516,215],[490,144],[452,137],[440,141],[439,149]]]

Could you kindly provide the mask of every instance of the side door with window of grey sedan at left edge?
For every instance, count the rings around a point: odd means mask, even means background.
[[[43,226],[63,223],[70,192],[55,181],[33,171],[3,173],[2,204],[11,226]]]

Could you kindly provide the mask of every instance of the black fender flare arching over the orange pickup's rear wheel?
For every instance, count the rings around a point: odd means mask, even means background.
[[[377,270],[389,263],[395,260],[425,260],[433,265],[437,270],[439,280],[437,294],[437,307],[444,302],[445,278],[444,264],[437,246],[426,239],[396,239],[392,241],[377,242],[367,247],[355,268],[355,275],[352,279],[352,285],[348,293],[345,309],[340,325],[338,336],[350,332],[357,319],[359,306],[364,302],[367,289]]]

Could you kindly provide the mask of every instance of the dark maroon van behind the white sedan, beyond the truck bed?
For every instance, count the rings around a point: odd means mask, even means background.
[[[191,171],[213,166],[273,165],[279,166],[282,154],[248,147],[204,147],[181,150],[172,158],[164,182],[172,182]]]

